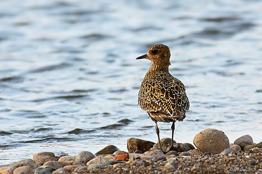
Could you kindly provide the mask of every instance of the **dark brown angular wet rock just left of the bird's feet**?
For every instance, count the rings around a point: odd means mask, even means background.
[[[127,140],[127,150],[129,153],[134,153],[136,150],[142,151],[145,153],[153,147],[155,143],[151,141],[141,140],[138,138],[129,138]]]

